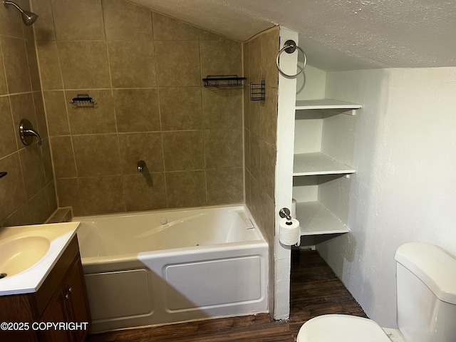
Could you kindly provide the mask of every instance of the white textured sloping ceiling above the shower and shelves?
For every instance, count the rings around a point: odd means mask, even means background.
[[[456,66],[456,1],[133,0],[245,41],[274,25],[299,32],[323,70]]]

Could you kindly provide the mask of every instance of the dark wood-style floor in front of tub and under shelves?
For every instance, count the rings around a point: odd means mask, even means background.
[[[301,325],[322,314],[366,317],[326,262],[314,251],[291,253],[291,304],[287,321],[269,315],[209,319],[88,336],[88,342],[294,342]]]

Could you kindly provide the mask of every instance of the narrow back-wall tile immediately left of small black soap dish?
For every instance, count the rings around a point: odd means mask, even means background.
[[[68,135],[68,115],[63,90],[43,91],[49,135]]]

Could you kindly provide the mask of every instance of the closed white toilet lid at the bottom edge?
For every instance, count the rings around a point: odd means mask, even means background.
[[[368,318],[323,315],[301,326],[297,342],[391,342],[380,326]]]

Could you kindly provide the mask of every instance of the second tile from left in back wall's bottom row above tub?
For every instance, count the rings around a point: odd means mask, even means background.
[[[84,215],[125,212],[121,176],[79,178],[78,185]]]

